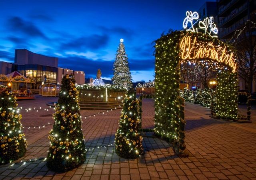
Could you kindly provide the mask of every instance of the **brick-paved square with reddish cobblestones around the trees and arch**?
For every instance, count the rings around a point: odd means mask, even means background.
[[[36,100],[18,101],[28,141],[27,153],[12,164],[0,166],[0,179],[256,179],[255,105],[252,123],[235,123],[212,119],[208,108],[186,103],[189,157],[178,157],[170,143],[146,133],[145,154],[135,160],[120,158],[114,152],[120,109],[104,113],[80,110],[88,151],[86,161],[79,168],[58,173],[49,170],[45,161],[48,131],[54,122],[54,110],[46,104],[57,100],[38,96]],[[154,128],[153,100],[144,99],[142,110],[142,127]],[[246,106],[240,105],[239,110],[245,114]]]

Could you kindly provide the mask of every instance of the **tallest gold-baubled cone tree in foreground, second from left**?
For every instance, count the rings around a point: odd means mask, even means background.
[[[62,78],[58,102],[55,102],[55,123],[49,131],[50,148],[47,166],[51,170],[66,172],[80,166],[86,158],[78,94],[73,74]]]

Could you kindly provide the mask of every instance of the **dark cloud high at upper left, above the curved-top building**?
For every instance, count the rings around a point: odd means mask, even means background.
[[[22,33],[28,37],[46,38],[44,33],[40,31],[32,22],[22,20],[20,17],[12,17],[7,20],[8,27],[13,33]]]

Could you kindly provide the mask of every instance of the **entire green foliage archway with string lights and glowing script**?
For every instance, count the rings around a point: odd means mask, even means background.
[[[236,55],[230,47],[215,37],[192,31],[175,31],[155,41],[155,128],[157,135],[186,146],[184,132],[184,100],[180,98],[180,64],[206,64],[218,71],[216,109],[218,118],[237,119]]]

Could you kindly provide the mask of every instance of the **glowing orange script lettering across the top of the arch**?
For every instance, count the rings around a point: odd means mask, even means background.
[[[196,37],[184,36],[180,41],[180,52],[183,60],[186,59],[211,59],[222,62],[236,72],[236,60],[233,53],[226,50],[226,47],[214,45],[213,42],[198,41]]]

